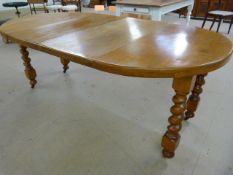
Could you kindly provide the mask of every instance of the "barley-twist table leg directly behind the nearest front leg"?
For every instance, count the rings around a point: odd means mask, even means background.
[[[194,117],[194,113],[197,110],[198,103],[200,101],[200,94],[202,93],[202,86],[205,84],[205,76],[207,74],[203,75],[197,75],[196,82],[194,85],[194,88],[192,90],[192,94],[190,95],[188,102],[187,102],[187,110],[185,112],[185,120],[188,120],[190,118]]]

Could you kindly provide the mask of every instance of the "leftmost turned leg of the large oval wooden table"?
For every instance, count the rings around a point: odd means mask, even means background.
[[[30,80],[31,88],[34,88],[36,81],[36,71],[31,65],[31,59],[28,57],[29,53],[27,51],[27,47],[20,46],[20,52],[22,54],[23,64],[25,66],[25,75]]]

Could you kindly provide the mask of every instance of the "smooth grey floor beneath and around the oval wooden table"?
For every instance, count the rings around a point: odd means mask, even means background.
[[[185,23],[171,14],[163,21]],[[209,74],[176,157],[164,159],[171,79],[122,77],[78,64],[64,75],[57,58],[33,50],[30,56],[38,73],[34,90],[18,46],[0,43],[0,175],[233,174],[233,61]]]

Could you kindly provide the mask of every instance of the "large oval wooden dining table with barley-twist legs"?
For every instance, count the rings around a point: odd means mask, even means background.
[[[72,61],[123,76],[172,78],[174,104],[161,144],[166,158],[175,155],[182,122],[194,117],[204,77],[233,51],[228,38],[204,29],[90,13],[26,16],[5,23],[0,33],[20,45],[32,88],[36,71],[27,48],[57,56],[64,72]]]

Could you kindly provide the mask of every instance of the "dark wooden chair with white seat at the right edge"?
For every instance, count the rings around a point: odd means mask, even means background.
[[[210,30],[212,30],[212,28],[213,28],[214,23],[216,22],[216,20],[219,19],[219,21],[218,21],[218,28],[217,28],[217,32],[218,32],[223,19],[226,19],[226,18],[229,19],[229,18],[231,18],[230,19],[230,26],[229,26],[229,29],[228,29],[228,34],[229,34],[230,30],[231,30],[231,27],[232,27],[232,24],[233,24],[233,12],[232,11],[221,10],[221,7],[223,5],[222,0],[218,1],[216,9],[212,9],[211,8],[212,7],[212,3],[213,3],[213,1],[208,0],[208,10],[207,10],[205,19],[203,21],[202,28],[204,28],[206,20],[208,19],[208,17],[212,16],[213,17],[213,21],[212,21],[212,24],[210,26]]]

